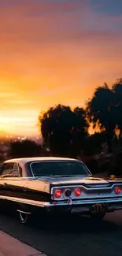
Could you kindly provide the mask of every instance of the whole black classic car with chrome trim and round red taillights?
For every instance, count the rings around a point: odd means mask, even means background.
[[[4,161],[0,206],[16,210],[21,223],[36,214],[89,214],[96,220],[122,210],[122,180],[92,176],[71,158],[17,158]]]

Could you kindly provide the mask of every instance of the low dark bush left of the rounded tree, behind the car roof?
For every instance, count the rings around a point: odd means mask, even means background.
[[[26,139],[23,141],[12,142],[9,147],[10,158],[38,157],[42,152],[42,147],[34,141]]]

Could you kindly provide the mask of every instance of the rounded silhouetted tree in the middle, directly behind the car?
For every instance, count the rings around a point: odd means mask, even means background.
[[[74,111],[69,106],[51,107],[43,117],[39,116],[39,124],[45,145],[61,156],[77,154],[87,135],[85,111],[78,107]]]

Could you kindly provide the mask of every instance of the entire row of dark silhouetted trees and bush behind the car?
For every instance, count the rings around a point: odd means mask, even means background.
[[[93,135],[89,134],[91,126]],[[121,143],[122,137],[122,79],[116,80],[112,87],[107,83],[97,87],[84,108],[72,109],[61,104],[50,107],[39,114],[39,128],[42,146],[28,140],[11,143],[9,156],[46,155],[48,148],[54,156],[82,158],[101,153],[104,143],[112,152],[114,143]]]

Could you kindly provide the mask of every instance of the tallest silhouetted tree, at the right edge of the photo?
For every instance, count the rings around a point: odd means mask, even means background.
[[[112,150],[111,140],[115,129],[122,132],[122,79],[116,80],[110,89],[105,83],[98,87],[93,97],[87,102],[87,117],[90,122],[99,125],[101,131],[105,131],[109,143],[109,150]]]

